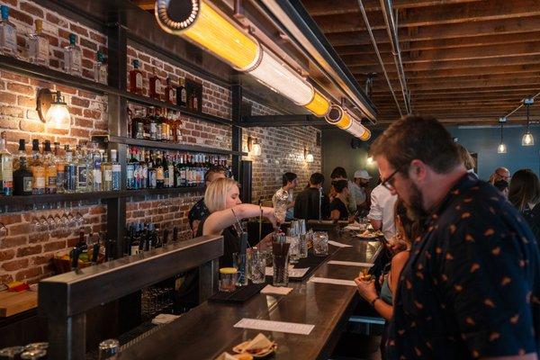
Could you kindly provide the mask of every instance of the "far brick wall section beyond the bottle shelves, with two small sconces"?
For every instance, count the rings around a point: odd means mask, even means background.
[[[260,103],[251,103],[252,115],[275,115],[280,112]],[[253,161],[252,201],[258,202],[260,198],[269,200],[275,191],[282,185],[282,175],[291,171],[298,175],[296,192],[299,192],[307,183],[310,175],[321,171],[320,147],[317,143],[317,133],[320,130],[311,126],[297,126],[292,128],[247,128],[242,132],[242,148],[247,151],[247,137],[257,138],[261,144],[262,154],[258,157],[247,156],[246,160]],[[308,148],[313,154],[314,161],[306,163],[303,150]]]

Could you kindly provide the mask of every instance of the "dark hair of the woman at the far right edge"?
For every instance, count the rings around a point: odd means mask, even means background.
[[[540,181],[531,169],[518,170],[510,180],[509,202],[524,211],[527,203],[536,204],[540,200]]]

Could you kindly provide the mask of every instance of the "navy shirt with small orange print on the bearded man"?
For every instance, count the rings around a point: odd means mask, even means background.
[[[413,240],[401,272],[392,359],[518,356],[540,348],[540,264],[526,220],[464,175]]]

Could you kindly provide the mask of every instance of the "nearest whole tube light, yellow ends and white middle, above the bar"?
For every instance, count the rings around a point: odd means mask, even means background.
[[[166,32],[182,36],[214,56],[257,78],[276,93],[304,106],[317,116],[329,112],[330,103],[293,68],[248,35],[206,0],[184,0],[171,4],[157,0],[157,23]]]

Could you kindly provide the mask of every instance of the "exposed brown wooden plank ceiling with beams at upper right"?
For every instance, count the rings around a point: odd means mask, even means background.
[[[372,100],[381,123],[400,117],[358,1],[405,112],[379,0],[302,0],[320,30],[364,85],[376,73]],[[383,1],[383,0],[381,0]],[[540,93],[540,0],[394,0],[413,113],[451,123],[497,124],[527,96]],[[540,96],[531,106],[540,117]],[[509,117],[524,123],[525,107]]]

